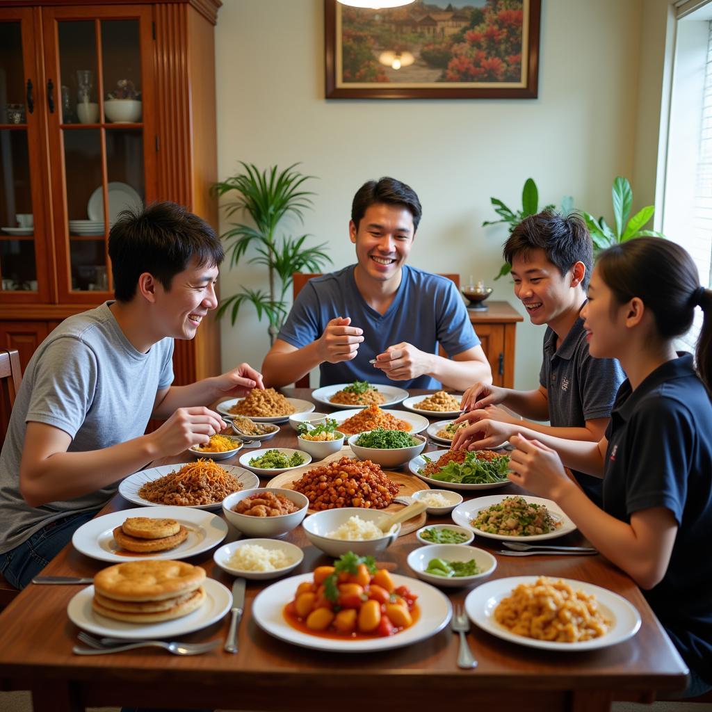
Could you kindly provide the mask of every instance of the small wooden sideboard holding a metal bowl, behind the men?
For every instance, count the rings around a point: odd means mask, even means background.
[[[487,310],[467,313],[492,367],[493,384],[513,388],[516,328],[524,317],[509,302],[487,301],[486,305]]]

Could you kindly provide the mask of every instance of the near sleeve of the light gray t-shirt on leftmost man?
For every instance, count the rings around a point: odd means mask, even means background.
[[[55,426],[72,438],[95,395],[98,363],[93,350],[74,337],[51,342],[38,361],[26,422]]]

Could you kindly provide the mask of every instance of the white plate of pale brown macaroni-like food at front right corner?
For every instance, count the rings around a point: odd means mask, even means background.
[[[468,593],[465,610],[476,626],[498,638],[566,652],[622,643],[638,632],[641,623],[638,610],[617,593],[586,581],[553,577],[488,581]],[[553,610],[562,615],[552,618]]]

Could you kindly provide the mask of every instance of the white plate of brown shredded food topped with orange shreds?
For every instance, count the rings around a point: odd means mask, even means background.
[[[260,486],[256,474],[212,460],[149,467],[121,481],[119,494],[145,507],[219,509],[229,494]]]

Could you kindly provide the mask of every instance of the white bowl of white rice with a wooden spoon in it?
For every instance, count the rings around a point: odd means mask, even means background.
[[[302,526],[308,540],[325,554],[338,557],[352,551],[369,556],[387,549],[398,538],[400,524],[389,532],[379,528],[378,522],[386,516],[361,507],[325,509],[308,516]]]

